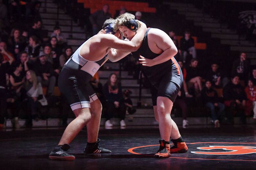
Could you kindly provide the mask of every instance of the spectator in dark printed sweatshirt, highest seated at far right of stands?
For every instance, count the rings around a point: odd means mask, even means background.
[[[246,81],[249,76],[250,61],[246,59],[246,53],[241,53],[240,57],[233,62],[232,76],[238,75],[241,80]]]

